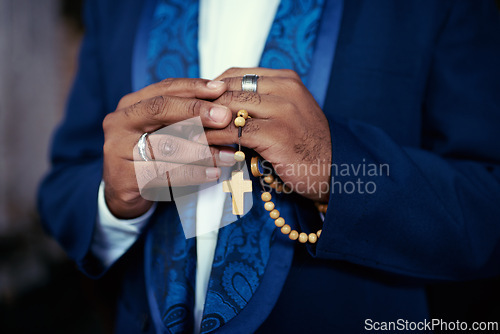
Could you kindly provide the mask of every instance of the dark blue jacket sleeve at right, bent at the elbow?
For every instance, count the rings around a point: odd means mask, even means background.
[[[333,181],[360,176],[332,169],[315,256],[427,279],[500,274],[498,59],[494,3],[457,1],[436,41],[421,147],[402,147],[363,122],[330,120],[334,164],[389,167],[361,176],[374,182],[373,194],[340,193]]]

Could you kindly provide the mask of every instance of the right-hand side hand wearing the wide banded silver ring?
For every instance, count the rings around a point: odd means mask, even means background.
[[[259,75],[257,93],[242,92],[243,75]],[[274,170],[293,191],[315,201],[329,198],[331,137],[328,121],[291,70],[232,68],[217,80],[228,91],[215,103],[233,114],[245,109],[252,116],[243,127],[242,145],[272,163]],[[207,130],[211,145],[237,143],[237,128],[231,122],[222,130]]]

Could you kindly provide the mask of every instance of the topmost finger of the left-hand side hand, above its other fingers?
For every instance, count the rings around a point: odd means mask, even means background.
[[[227,84],[223,81],[169,78],[144,87],[137,92],[125,95],[118,103],[117,109],[126,108],[142,100],[160,95],[214,100],[225,92],[226,89]]]

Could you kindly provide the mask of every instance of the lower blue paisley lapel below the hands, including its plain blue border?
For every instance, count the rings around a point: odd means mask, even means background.
[[[258,189],[258,182],[253,186]],[[259,194],[253,193],[254,201],[260,200]],[[293,204],[282,196],[275,196],[274,201],[281,215],[288,217],[287,224],[296,228]],[[231,214],[230,209],[227,201],[227,214]],[[293,243],[276,229],[268,211],[258,204],[219,233],[218,242],[222,244],[217,245],[214,257],[201,332],[254,332],[278,300],[290,270]],[[256,321],[246,321],[248,315]]]

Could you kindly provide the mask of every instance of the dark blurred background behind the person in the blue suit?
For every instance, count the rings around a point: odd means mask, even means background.
[[[35,205],[76,68],[82,3],[0,0],[0,333],[112,331],[113,278],[78,272]],[[429,301],[432,318],[500,323],[500,278],[434,284]]]

